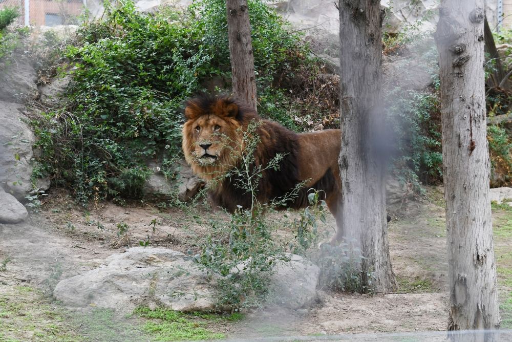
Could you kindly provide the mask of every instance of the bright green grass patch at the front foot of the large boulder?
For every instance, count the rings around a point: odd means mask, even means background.
[[[205,327],[207,321],[242,318],[239,313],[223,316],[199,312],[183,313],[161,308],[151,310],[148,307],[138,307],[134,314],[150,319],[143,325],[143,330],[151,334],[155,341],[221,339],[225,337],[224,334],[208,330]]]

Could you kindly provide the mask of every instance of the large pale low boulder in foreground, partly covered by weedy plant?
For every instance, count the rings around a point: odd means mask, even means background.
[[[75,308],[109,308],[130,312],[157,305],[180,311],[208,311],[215,306],[219,275],[201,271],[192,257],[166,248],[133,247],[114,254],[99,268],[60,281],[53,294]],[[316,294],[318,267],[290,254],[276,266],[271,290],[275,303],[298,308]]]

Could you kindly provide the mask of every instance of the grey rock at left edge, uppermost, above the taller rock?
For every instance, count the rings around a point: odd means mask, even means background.
[[[0,73],[0,101],[25,103],[37,97],[37,72],[28,54],[14,54],[2,66]]]

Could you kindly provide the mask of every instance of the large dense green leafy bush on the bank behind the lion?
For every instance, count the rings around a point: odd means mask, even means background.
[[[260,0],[249,1],[249,13],[258,87],[268,89],[308,50]],[[229,88],[224,1],[197,0],[185,14],[167,9],[155,15],[127,1],[106,6],[104,17],[82,25],[66,48],[74,79],[66,102],[32,122],[41,149],[36,175],[75,189],[82,203],[140,196],[151,174],[146,162],[181,153],[183,100],[212,78]],[[260,101],[276,99],[262,94]],[[293,128],[285,112],[260,104],[262,115],[276,112],[274,119]]]

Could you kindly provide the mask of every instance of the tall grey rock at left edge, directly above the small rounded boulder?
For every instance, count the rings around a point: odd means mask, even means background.
[[[12,102],[0,101],[0,187],[18,201],[25,201],[32,191],[32,144],[35,141],[22,107]],[[41,180],[42,190],[49,187],[48,180]]]

